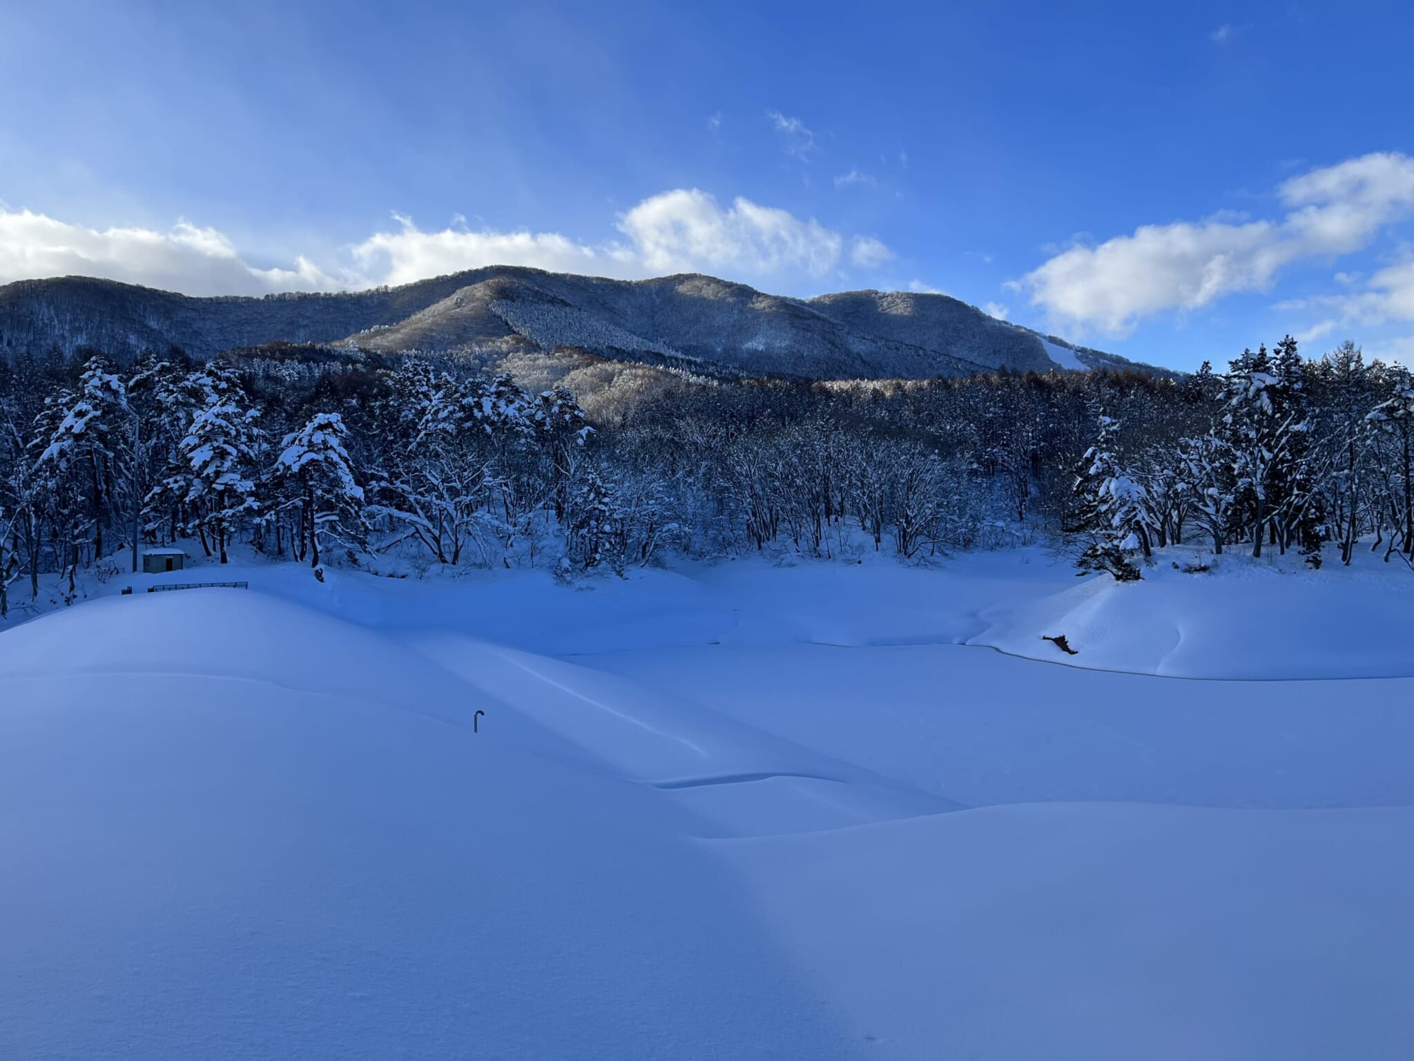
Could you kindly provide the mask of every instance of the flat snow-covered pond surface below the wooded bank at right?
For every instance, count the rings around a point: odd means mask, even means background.
[[[962,645],[718,645],[580,662],[966,806],[1414,805],[1414,679],[1185,682]]]

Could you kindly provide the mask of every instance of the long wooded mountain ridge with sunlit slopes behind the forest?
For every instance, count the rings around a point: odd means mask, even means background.
[[[393,289],[197,298],[92,277],[0,287],[0,356],[177,347],[205,359],[270,342],[349,351],[583,351],[732,376],[926,379],[1133,362],[988,317],[943,294],[765,294],[710,276],[652,280],[489,266]],[[1162,369],[1135,366],[1167,375]]]

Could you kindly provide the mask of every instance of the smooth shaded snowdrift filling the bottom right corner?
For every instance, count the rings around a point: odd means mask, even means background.
[[[1396,1061],[1411,830],[1051,804],[721,847],[870,1057]]]

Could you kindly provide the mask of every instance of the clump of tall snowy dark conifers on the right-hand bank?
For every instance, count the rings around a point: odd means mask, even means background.
[[[1096,412],[1096,441],[1075,467],[1062,529],[1082,567],[1120,580],[1155,547],[1200,533],[1281,553],[1299,549],[1319,567],[1332,543],[1349,564],[1374,536],[1384,559],[1414,555],[1411,437],[1414,381],[1401,365],[1366,365],[1352,342],[1304,361],[1290,335],[1268,352],[1243,351],[1223,376],[1208,365],[1178,437]]]

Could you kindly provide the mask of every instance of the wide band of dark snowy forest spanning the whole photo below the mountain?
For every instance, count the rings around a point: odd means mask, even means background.
[[[0,366],[0,613],[134,539],[341,563],[625,570],[666,553],[901,557],[1049,538],[1143,576],[1171,543],[1414,553],[1414,381],[1290,337],[1226,372],[701,382],[591,422],[451,359],[178,351]],[[62,591],[62,590],[61,590]]]

